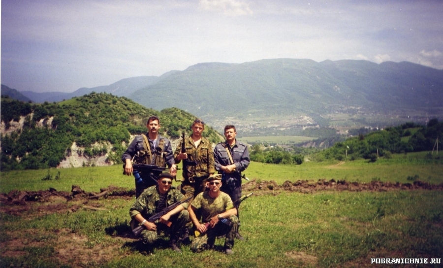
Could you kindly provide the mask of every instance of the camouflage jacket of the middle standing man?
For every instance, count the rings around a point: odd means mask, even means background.
[[[179,145],[175,149],[174,160],[175,163],[180,163],[177,159],[177,155],[182,150],[183,140],[180,140]],[[214,154],[212,151],[211,142],[204,137],[201,137],[201,142],[198,147],[195,147],[191,136],[185,139],[186,153],[188,153],[188,161],[192,164],[187,165],[187,168],[183,169],[183,177],[188,180],[190,177],[202,177],[214,174]]]

